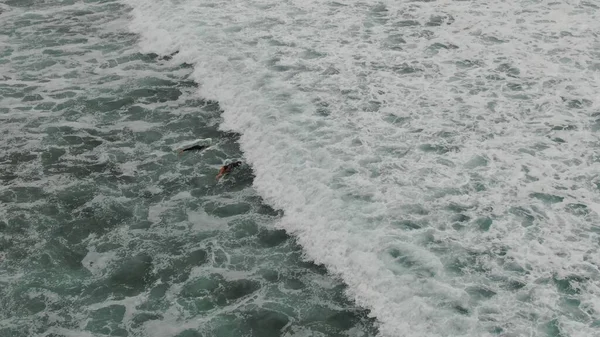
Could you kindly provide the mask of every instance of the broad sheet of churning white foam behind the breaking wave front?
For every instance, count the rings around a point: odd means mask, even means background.
[[[595,333],[593,6],[126,2],[383,335]]]

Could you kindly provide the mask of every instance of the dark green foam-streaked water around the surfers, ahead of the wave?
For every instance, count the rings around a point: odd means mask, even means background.
[[[376,333],[251,167],[216,183],[239,135],[190,65],[136,47],[124,5],[2,9],[0,336]]]

